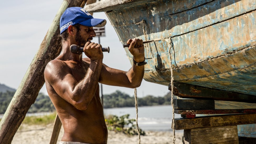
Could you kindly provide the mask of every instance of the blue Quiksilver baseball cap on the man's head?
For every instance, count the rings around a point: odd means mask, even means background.
[[[81,7],[67,8],[60,18],[60,33],[67,30],[68,26],[75,24],[102,27],[106,24],[106,20],[93,18],[90,13]]]

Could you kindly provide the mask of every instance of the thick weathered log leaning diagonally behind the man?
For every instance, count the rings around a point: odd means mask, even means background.
[[[64,0],[52,22],[37,54],[31,62],[22,82],[14,94],[0,122],[0,144],[11,143],[13,136],[35,102],[39,90],[45,83],[44,69],[47,63],[61,51],[60,17],[68,7],[84,7],[87,0]]]

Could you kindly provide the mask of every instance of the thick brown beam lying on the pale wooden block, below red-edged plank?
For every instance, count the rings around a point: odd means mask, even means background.
[[[194,119],[174,119],[175,130],[198,129],[230,125],[256,124],[256,114],[202,116]]]

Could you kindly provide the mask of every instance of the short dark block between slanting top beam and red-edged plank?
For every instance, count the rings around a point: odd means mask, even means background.
[[[214,100],[174,99],[175,109],[215,109]]]

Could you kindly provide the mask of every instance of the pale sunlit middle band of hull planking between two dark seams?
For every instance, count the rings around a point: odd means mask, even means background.
[[[253,11],[225,22],[172,38],[175,51],[175,56],[172,54],[173,66],[183,67],[200,63],[226,54],[232,54],[233,51],[242,50],[249,46],[255,46],[255,15],[256,12]],[[142,36],[139,38],[142,38]],[[148,54],[147,51],[146,54],[147,58],[152,58],[152,61],[148,61],[150,65],[159,65],[159,59],[166,63],[165,67],[151,67],[145,70],[157,71],[169,69],[169,39],[150,42],[149,46],[149,52],[152,54]],[[132,58],[132,55],[129,54],[129,57]],[[236,62],[240,63],[238,60],[237,58]],[[158,63],[155,63],[156,61]],[[255,61],[253,62],[255,63]],[[212,68],[215,68],[215,66],[212,66]],[[232,65],[231,68],[236,68],[236,65]],[[223,71],[223,69],[217,69],[217,71]]]

